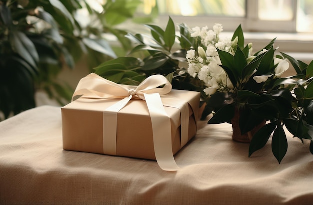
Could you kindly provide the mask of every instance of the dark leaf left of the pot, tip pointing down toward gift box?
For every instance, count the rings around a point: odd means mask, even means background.
[[[230,122],[234,116],[234,104],[227,104],[219,109],[213,117],[207,122],[208,124],[221,124]]]

